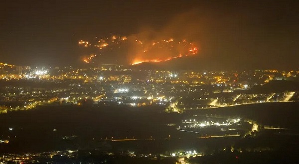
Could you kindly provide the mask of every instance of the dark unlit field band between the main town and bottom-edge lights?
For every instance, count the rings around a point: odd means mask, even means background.
[[[0,144],[0,153],[94,148],[131,149],[139,152],[188,149],[201,151],[201,148],[205,148],[202,151],[207,151],[207,148],[212,150],[231,145],[240,137],[197,139],[199,134],[176,129],[181,120],[241,117],[255,120],[262,125],[291,129],[290,133],[294,136],[298,134],[298,111],[298,102],[190,110],[183,114],[142,108],[132,111],[123,107],[40,106],[34,110],[0,115],[0,137],[6,139],[9,136],[9,144]],[[9,128],[13,130],[9,131]],[[208,131],[203,133],[213,135]],[[138,140],[111,142],[109,140],[112,137],[114,140]],[[149,140],[150,138],[153,140]],[[283,139],[273,139],[273,142]]]

